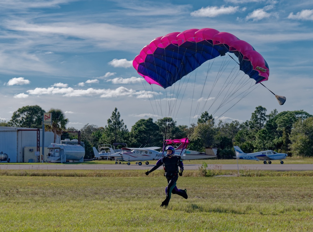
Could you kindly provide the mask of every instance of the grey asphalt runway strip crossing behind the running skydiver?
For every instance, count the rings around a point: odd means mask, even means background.
[[[0,170],[147,170],[154,165],[137,164],[5,164]],[[185,170],[198,169],[201,164],[184,164]],[[159,167],[160,169],[162,167]],[[271,170],[271,171],[312,171],[313,164],[208,164],[209,169],[221,170]]]

